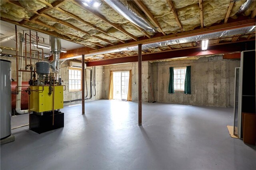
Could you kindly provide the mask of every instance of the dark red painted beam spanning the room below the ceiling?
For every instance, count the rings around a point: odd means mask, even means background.
[[[238,42],[238,43],[230,43],[230,44],[222,44],[222,45],[212,45],[212,46],[209,46],[208,50],[206,51],[202,51],[201,47],[196,47],[191,49],[180,49],[175,51],[166,51],[166,52],[162,51],[159,53],[144,54],[142,55],[142,61],[172,59],[177,57],[193,57],[193,56],[200,56],[200,55],[218,55],[218,54],[235,53],[235,52],[253,50],[253,49],[255,49],[255,40]],[[130,63],[130,62],[137,62],[137,61],[138,61],[138,55],[134,55],[130,57],[121,57],[116,59],[90,61],[86,63],[86,66],[100,66],[100,65],[108,65],[108,64]]]

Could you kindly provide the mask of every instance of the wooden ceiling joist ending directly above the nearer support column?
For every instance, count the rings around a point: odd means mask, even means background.
[[[134,39],[135,41],[138,41],[138,38],[135,37],[134,35],[132,35],[131,33],[128,33],[126,30],[124,30],[124,28],[117,24],[117,23],[112,23],[110,21],[108,21],[103,15],[101,15],[100,13],[96,12],[95,10],[92,10],[91,8],[88,8],[86,6],[84,6],[84,4],[82,4],[81,1],[78,0],[72,0],[72,2],[74,4],[76,4],[77,6],[79,6],[80,8],[90,12],[91,14],[93,14],[94,16],[98,17],[100,20],[105,21],[106,23],[108,23],[109,25],[111,25],[112,27],[116,28],[118,31],[121,31],[122,33],[126,34],[127,36],[129,36],[130,38]]]

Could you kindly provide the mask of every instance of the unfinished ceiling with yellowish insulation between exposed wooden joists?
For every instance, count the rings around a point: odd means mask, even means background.
[[[93,50],[140,39],[190,31],[200,27],[209,27],[218,23],[228,23],[228,20],[236,20],[242,15],[247,19],[254,18],[254,14],[251,13],[256,9],[256,1],[250,0],[118,1],[121,7],[125,7],[127,11],[132,11],[135,21],[131,21],[122,15],[121,8],[110,6],[110,0],[97,0],[101,4],[98,8],[92,7],[92,5],[86,6],[83,2],[88,2],[88,0],[1,0],[1,20],[54,35],[90,47]],[[246,2],[247,4],[244,6]],[[200,12],[200,8],[202,8],[202,12]],[[143,26],[140,26],[142,22],[154,27],[154,31],[143,29]],[[251,39],[255,36],[254,32],[225,38],[216,37],[209,43]],[[172,46],[154,47],[144,50],[142,53],[154,53],[198,45],[200,44],[196,42],[178,43],[172,44]],[[100,57],[110,59],[136,54],[136,51],[118,51],[104,53]],[[88,56],[86,60],[97,59]]]

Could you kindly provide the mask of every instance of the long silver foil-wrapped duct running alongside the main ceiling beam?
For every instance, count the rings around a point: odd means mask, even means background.
[[[152,49],[156,47],[166,47],[170,45],[177,45],[182,43],[191,43],[196,41],[202,41],[204,39],[218,39],[218,38],[225,38],[225,37],[231,37],[235,35],[246,35],[249,33],[255,32],[255,25],[254,26],[248,26],[248,27],[242,27],[242,28],[236,28],[236,29],[230,29],[226,31],[218,31],[214,33],[206,33],[203,35],[194,35],[190,37],[184,37],[184,38],[178,38],[178,39],[171,39],[167,41],[161,41],[157,43],[149,43],[142,45],[142,50],[146,49]],[[118,53],[122,51],[138,51],[138,46],[132,46],[132,47],[124,47],[119,49],[113,49],[109,51],[103,51],[98,53],[93,53],[93,55],[101,55],[106,53]],[[84,55],[85,57],[90,57],[92,54]]]

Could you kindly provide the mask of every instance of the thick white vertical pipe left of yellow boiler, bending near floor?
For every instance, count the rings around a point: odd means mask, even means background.
[[[23,55],[23,34],[22,33],[18,33],[19,37],[20,37],[20,41],[19,41],[19,51],[18,51],[18,55],[22,56]],[[22,57],[19,57],[19,65],[18,65],[18,69],[22,70]],[[17,86],[21,86],[22,85],[22,71],[18,72],[18,82],[17,82]],[[28,113],[28,110],[21,110],[20,109],[20,104],[21,104],[21,87],[18,87],[18,91],[19,93],[17,94],[16,97],[16,112],[19,114],[24,114],[24,113]]]

